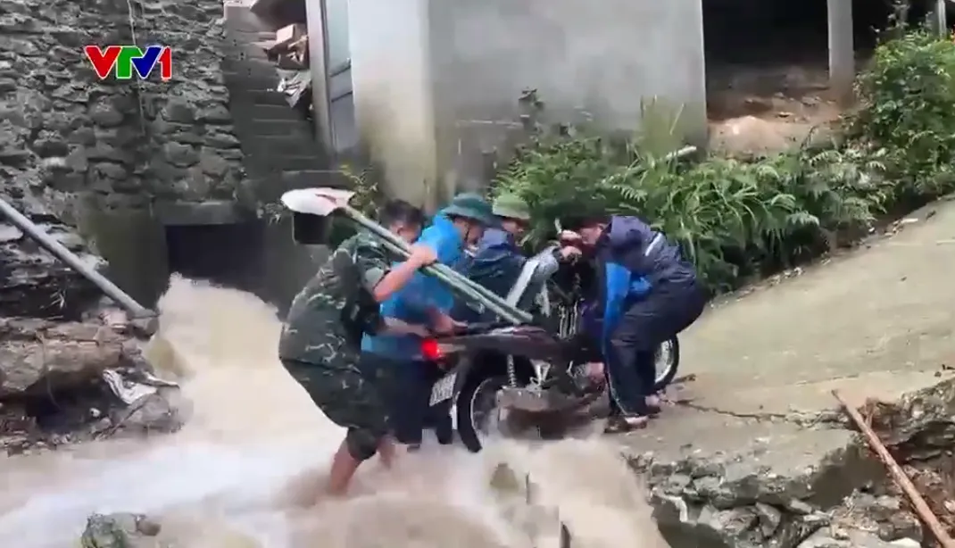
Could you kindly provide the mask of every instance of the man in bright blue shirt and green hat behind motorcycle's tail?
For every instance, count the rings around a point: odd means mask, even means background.
[[[464,248],[473,245],[489,225],[496,224],[491,205],[477,194],[457,195],[437,212],[435,220],[415,245],[431,248],[437,262],[455,268],[464,258]],[[450,332],[455,327],[451,308],[455,295],[450,287],[418,272],[401,290],[381,305],[386,319],[394,318],[413,325],[428,325],[435,332]],[[376,368],[392,369],[396,380],[392,425],[399,443],[412,448],[421,443],[425,418],[429,414],[431,388],[443,371],[425,362],[420,353],[421,338],[414,335],[366,336],[362,341],[364,360]],[[450,404],[435,409],[438,441],[450,444],[453,433]]]

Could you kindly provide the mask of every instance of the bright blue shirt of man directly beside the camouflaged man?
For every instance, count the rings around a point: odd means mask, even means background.
[[[441,212],[435,215],[435,220],[424,229],[416,243],[434,249],[437,262],[453,268],[464,257],[464,240],[451,220]],[[427,274],[415,272],[407,285],[381,304],[381,315],[421,325],[428,323],[430,308],[447,314],[454,305],[455,294],[451,288]],[[414,359],[420,354],[421,341],[414,335],[365,335],[361,348],[399,359]]]

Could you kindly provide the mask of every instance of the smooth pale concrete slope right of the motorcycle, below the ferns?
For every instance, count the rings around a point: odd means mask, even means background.
[[[688,395],[733,413],[892,397],[955,366],[955,201],[801,276],[714,306],[684,335]]]

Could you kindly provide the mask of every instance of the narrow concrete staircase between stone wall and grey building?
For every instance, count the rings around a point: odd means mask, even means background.
[[[267,202],[291,188],[341,186],[343,179],[331,170],[332,158],[313,137],[311,123],[276,91],[276,67],[255,45],[275,33],[243,4],[225,2],[223,80],[250,179],[249,198]]]

